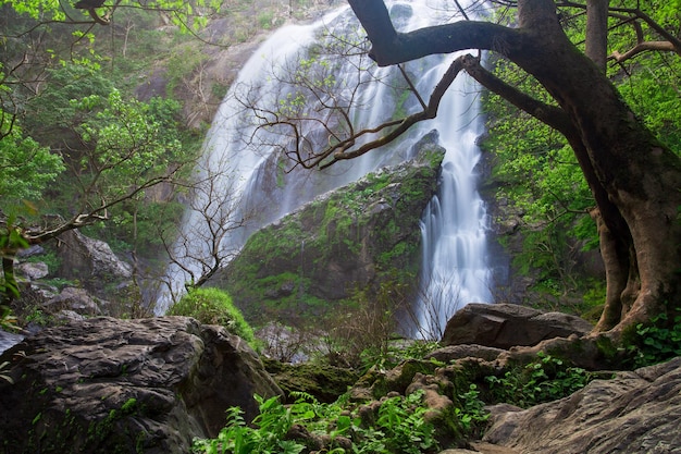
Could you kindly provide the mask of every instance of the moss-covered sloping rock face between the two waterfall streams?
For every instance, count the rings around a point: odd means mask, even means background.
[[[209,285],[227,290],[252,320],[268,305],[300,314],[387,280],[413,284],[419,222],[437,189],[445,151],[436,133],[416,147],[416,158],[322,195],[256,232]]]

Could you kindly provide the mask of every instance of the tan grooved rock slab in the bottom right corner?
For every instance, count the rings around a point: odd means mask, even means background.
[[[493,408],[484,440],[521,453],[681,453],[681,358],[529,408]]]

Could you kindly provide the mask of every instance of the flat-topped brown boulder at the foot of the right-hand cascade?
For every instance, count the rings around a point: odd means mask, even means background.
[[[590,333],[587,321],[513,304],[468,304],[447,322],[443,345],[478,344],[495,348],[536,345],[554,338]]]

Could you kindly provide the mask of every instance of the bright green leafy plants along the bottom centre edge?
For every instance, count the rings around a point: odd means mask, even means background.
[[[426,421],[423,392],[384,400],[372,421],[363,421],[344,410],[343,402],[320,404],[309,394],[284,406],[277,397],[263,400],[256,395],[260,414],[249,426],[239,408],[227,410],[227,425],[215,439],[195,439],[194,453],[264,454],[299,453],[308,449],[305,440],[290,440],[294,425],[320,435],[329,435],[330,454],[347,451],[336,443],[337,437],[352,441],[356,454],[422,454],[437,452],[433,426]]]

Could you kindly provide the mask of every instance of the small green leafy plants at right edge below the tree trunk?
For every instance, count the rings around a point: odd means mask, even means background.
[[[681,356],[681,309],[671,319],[658,314],[647,323],[637,323],[623,336],[622,348],[632,367],[644,367]]]

